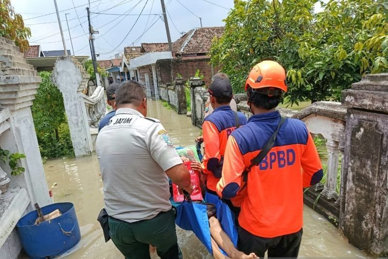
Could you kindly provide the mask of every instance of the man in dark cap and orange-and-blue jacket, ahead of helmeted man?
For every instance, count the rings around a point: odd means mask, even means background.
[[[202,124],[205,148],[202,172],[207,175],[206,200],[215,203],[219,199],[216,186],[221,178],[227,138],[236,126],[246,124],[246,118],[244,114],[233,111],[229,106],[233,98],[229,80],[216,78],[209,87],[209,93],[210,105],[214,110]],[[228,205],[235,214],[238,214],[238,208]]]

